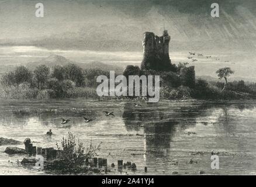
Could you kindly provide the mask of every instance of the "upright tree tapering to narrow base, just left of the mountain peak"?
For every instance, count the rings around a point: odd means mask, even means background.
[[[43,86],[46,84],[47,79],[49,79],[50,75],[50,68],[46,65],[39,65],[34,70],[34,76],[37,80],[37,86],[39,89],[42,89]]]

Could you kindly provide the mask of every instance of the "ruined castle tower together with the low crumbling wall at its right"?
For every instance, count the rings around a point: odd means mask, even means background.
[[[169,58],[169,36],[167,30],[164,30],[162,36],[157,36],[153,32],[143,34],[143,60],[141,62],[141,71],[168,71],[173,74],[173,78],[167,81],[179,82],[178,84],[193,88],[195,85],[195,67],[182,67],[177,70],[175,64],[171,63]],[[177,72],[178,71],[178,72]]]

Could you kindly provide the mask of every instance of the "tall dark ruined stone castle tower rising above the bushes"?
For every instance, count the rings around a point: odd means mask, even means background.
[[[170,40],[167,30],[164,30],[162,36],[156,36],[153,32],[144,33],[141,70],[172,71],[169,58]]]

